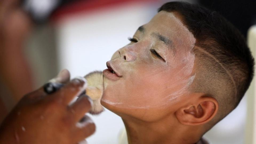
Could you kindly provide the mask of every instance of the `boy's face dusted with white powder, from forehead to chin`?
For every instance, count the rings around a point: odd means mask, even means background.
[[[119,49],[105,70],[103,106],[119,115],[154,121],[186,100],[193,82],[193,34],[177,13],[160,11]],[[138,42],[136,42],[138,41]]]

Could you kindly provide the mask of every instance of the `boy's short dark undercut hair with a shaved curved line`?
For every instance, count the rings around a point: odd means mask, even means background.
[[[254,72],[254,59],[246,40],[216,11],[186,2],[168,2],[159,11],[181,15],[183,24],[196,39],[195,79],[190,92],[205,93],[219,103],[211,127],[229,114],[241,101]]]

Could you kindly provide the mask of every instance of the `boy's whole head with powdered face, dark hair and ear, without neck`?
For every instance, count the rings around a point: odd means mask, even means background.
[[[221,15],[169,2],[107,62],[102,105],[123,119],[204,125],[230,113],[253,78],[245,39]],[[172,123],[172,122],[170,122]]]

